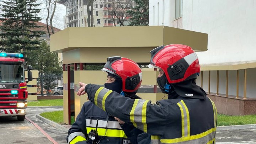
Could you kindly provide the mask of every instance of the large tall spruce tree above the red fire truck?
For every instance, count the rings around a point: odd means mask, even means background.
[[[38,39],[44,32],[36,31],[37,14],[41,9],[37,0],[3,0],[0,4],[0,50],[9,53],[22,53],[26,62],[36,59],[31,50],[38,49]]]

